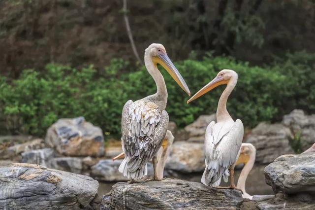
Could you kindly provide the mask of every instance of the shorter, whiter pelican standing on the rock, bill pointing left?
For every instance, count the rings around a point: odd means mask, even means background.
[[[238,75],[235,71],[221,70],[211,82],[187,101],[189,103],[215,87],[226,84],[218,103],[218,122],[212,121],[206,129],[206,168],[201,178],[201,182],[206,186],[218,187],[221,183],[221,177],[227,182],[228,176],[230,176],[230,186],[228,188],[238,189],[234,183],[234,166],[240,153],[244,127],[240,119],[234,122],[226,109],[227,98],[234,89],[237,79]]]

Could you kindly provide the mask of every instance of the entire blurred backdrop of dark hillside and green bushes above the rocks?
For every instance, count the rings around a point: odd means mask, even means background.
[[[127,100],[156,91],[135,58],[162,43],[195,93],[221,69],[239,73],[228,102],[252,128],[293,108],[315,113],[314,0],[2,0],[0,132],[43,136],[84,116],[113,137]],[[183,127],[216,110],[223,87],[187,105],[162,70],[170,120]]]

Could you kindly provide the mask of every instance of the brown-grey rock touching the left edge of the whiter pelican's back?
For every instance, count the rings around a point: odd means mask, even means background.
[[[185,127],[185,131],[188,132],[189,141],[204,142],[206,128],[211,121],[216,121],[216,114],[200,115],[196,121]]]

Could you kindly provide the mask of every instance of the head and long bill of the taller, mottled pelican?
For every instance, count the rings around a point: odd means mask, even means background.
[[[185,80],[176,69],[171,59],[167,56],[165,47],[162,44],[151,44],[145,50],[145,54],[152,58],[154,65],[161,65],[172,76],[176,83],[190,96],[190,91]]]

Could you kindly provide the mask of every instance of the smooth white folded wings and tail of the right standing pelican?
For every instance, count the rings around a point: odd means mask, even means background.
[[[222,176],[227,181],[228,169],[238,158],[243,135],[244,127],[239,119],[233,124],[209,124],[205,136],[206,168],[202,183],[218,186]]]

